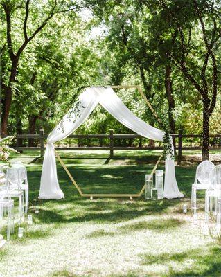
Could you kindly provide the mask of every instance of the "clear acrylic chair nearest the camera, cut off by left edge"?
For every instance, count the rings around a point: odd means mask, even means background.
[[[3,211],[8,211],[7,240],[14,231],[14,201],[8,196],[8,180],[3,172],[0,172],[0,220],[3,219]]]

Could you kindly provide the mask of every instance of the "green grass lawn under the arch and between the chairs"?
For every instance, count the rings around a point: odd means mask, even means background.
[[[42,168],[37,154],[19,155],[32,204]],[[84,193],[138,193],[159,152],[116,152],[109,163],[108,152],[60,155]],[[39,214],[32,213],[34,224],[24,224],[24,238],[17,238],[16,226],[0,249],[0,276],[221,276],[220,242],[192,224],[190,209],[182,213],[183,204],[190,205],[195,168],[176,168],[182,200],[90,200],[78,195],[58,163],[65,199],[42,201]],[[6,236],[5,226],[1,233]]]

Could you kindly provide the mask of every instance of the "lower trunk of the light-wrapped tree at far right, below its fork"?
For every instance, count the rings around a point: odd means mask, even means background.
[[[209,159],[209,103],[204,101],[202,123],[202,161]]]

